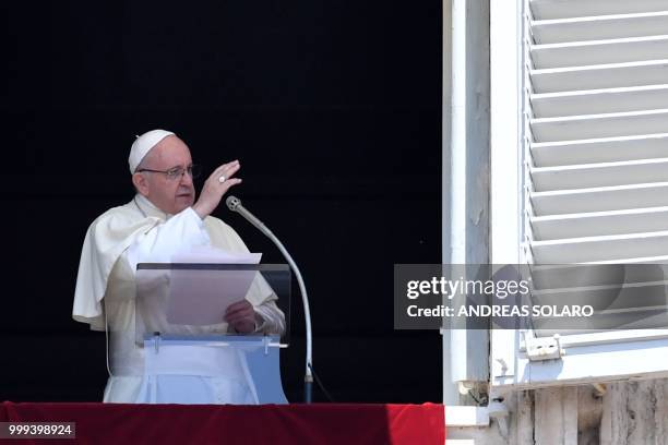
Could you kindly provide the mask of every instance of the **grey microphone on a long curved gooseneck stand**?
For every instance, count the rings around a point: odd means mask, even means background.
[[[309,297],[307,294],[306,285],[303,284],[303,279],[301,278],[301,273],[299,272],[299,267],[288,253],[287,249],[283,245],[283,243],[276,238],[276,236],[266,227],[255,215],[250,213],[246,207],[241,205],[241,200],[237,196],[228,196],[225,200],[225,204],[227,204],[227,208],[232,212],[241,215],[246,220],[255,226],[258,230],[264,233],[281,251],[283,256],[287,260],[290,268],[295,273],[295,277],[297,278],[297,282],[299,284],[299,291],[301,292],[301,302],[303,303],[303,320],[306,323],[306,341],[307,341],[307,353],[306,353],[306,373],[303,376],[303,398],[307,404],[311,402],[311,394],[313,386],[313,336],[311,333],[311,311],[309,309]]]

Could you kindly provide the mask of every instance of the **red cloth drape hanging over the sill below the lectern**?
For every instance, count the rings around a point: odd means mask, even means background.
[[[445,443],[444,407],[434,404],[215,406],[5,401],[0,421],[76,422],[76,442],[88,444]],[[23,445],[31,442],[50,441],[15,441]]]

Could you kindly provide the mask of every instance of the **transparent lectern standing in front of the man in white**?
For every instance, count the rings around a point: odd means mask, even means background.
[[[110,382],[134,382],[136,402],[287,404],[290,281],[283,264],[139,264],[135,298],[106,306]],[[235,333],[225,310],[243,299],[269,299],[281,323]]]

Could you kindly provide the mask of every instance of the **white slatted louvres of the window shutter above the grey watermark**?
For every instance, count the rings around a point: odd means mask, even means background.
[[[668,260],[668,0],[532,0],[526,246]]]

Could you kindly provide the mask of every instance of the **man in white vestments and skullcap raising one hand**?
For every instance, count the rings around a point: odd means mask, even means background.
[[[147,156],[154,147],[157,147],[155,153]],[[232,349],[165,347],[156,356],[146,353],[136,340],[138,325],[158,323],[157,315],[151,320],[152,314],[138,314],[135,310],[139,263],[168,263],[175,253],[205,245],[228,252],[248,252],[243,241],[228,225],[208,216],[223,193],[240,182],[230,179],[239,168],[238,163],[216,169],[200,200],[192,205],[194,189],[189,160],[188,147],[174,133],[154,130],[139,137],[130,155],[130,170],[138,194],[128,204],[99,216],[86,233],[72,316],[77,322],[90,324],[92,329],[108,329],[110,376],[104,401],[258,402],[244,359]],[[163,164],[170,170],[142,169],[147,161],[152,164],[150,167]],[[165,178],[148,176],[148,180],[154,182],[147,185],[142,182],[147,178],[140,177],[142,170],[163,173]],[[171,214],[166,209],[179,212]],[[283,333],[284,314],[276,306],[276,294],[264,280],[253,281],[246,300],[236,313],[229,314],[228,320],[193,327],[192,333],[225,334],[237,329]]]

